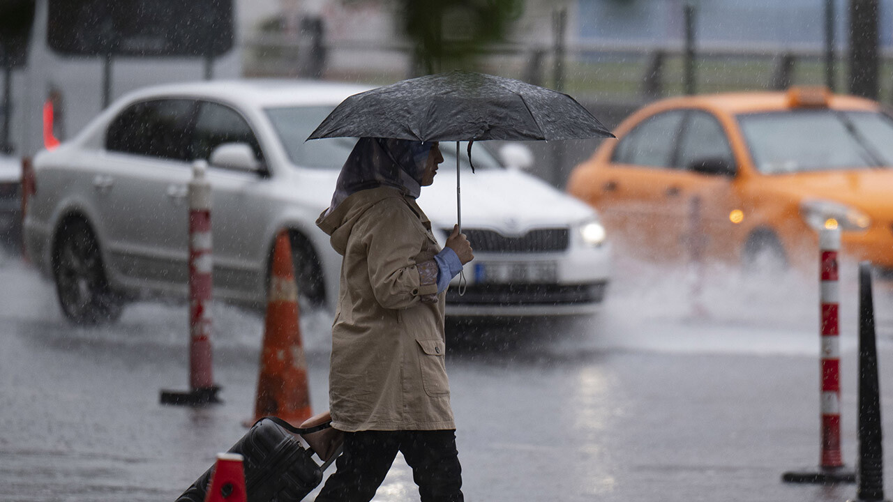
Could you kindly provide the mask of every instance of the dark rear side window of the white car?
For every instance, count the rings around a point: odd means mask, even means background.
[[[186,161],[194,102],[156,99],[125,108],[109,125],[105,147],[115,152]]]

